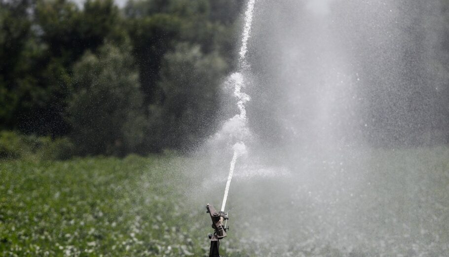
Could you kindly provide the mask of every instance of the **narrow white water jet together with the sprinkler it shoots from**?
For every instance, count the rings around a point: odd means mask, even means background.
[[[248,134],[247,133],[248,128],[246,126],[247,118],[246,118],[245,103],[250,100],[250,97],[247,94],[241,92],[241,89],[244,86],[244,78],[242,72],[249,69],[249,66],[246,62],[246,53],[248,51],[248,39],[250,37],[251,25],[253,22],[255,1],[256,0],[248,1],[248,5],[245,12],[245,24],[243,27],[243,34],[242,34],[242,46],[240,47],[239,60],[238,60],[239,70],[241,72],[233,73],[230,76],[230,79],[234,86],[234,96],[236,96],[238,99],[237,107],[239,109],[239,114],[232,117],[228,122],[238,124],[237,128],[239,128],[239,131],[237,132],[237,134],[239,135],[238,137],[239,141],[235,143],[234,146],[232,147],[234,153],[232,155],[232,159],[230,162],[229,175],[227,177],[221,211],[217,212],[212,205],[210,204],[206,205],[207,213],[210,214],[212,220],[212,228],[214,228],[215,230],[214,234],[209,235],[209,239],[211,240],[209,257],[222,257],[220,256],[219,252],[220,240],[226,237],[226,232],[229,229],[229,227],[226,227],[226,224],[225,225],[223,224],[225,221],[227,222],[228,220],[227,213],[225,213],[225,206],[227,195],[229,193],[229,186],[232,181],[232,176],[234,174],[234,168],[235,163],[237,162],[237,158],[246,153],[246,146],[243,143],[244,136],[242,135]]]

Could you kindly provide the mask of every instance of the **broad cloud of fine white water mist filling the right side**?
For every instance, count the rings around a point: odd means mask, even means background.
[[[234,114],[219,117],[189,192],[201,206],[227,182],[229,253],[447,255],[440,4],[257,1],[225,81]]]

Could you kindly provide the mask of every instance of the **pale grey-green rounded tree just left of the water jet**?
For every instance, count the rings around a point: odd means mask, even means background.
[[[217,53],[180,43],[162,61],[158,87],[163,98],[150,107],[150,145],[187,149],[201,143],[217,126],[219,86],[227,69]]]

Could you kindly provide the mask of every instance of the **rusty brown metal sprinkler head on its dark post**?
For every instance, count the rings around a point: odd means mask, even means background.
[[[209,257],[222,257],[220,255],[220,240],[226,237],[226,231],[229,227],[225,227],[223,224],[227,218],[227,213],[217,212],[214,206],[206,205],[207,213],[210,214],[212,220],[212,228],[215,230],[214,234],[209,234],[209,239],[211,240],[211,248],[209,251]]]

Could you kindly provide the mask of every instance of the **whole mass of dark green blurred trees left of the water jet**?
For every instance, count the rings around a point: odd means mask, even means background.
[[[195,145],[215,128],[242,0],[0,0],[0,129],[77,154]]]

